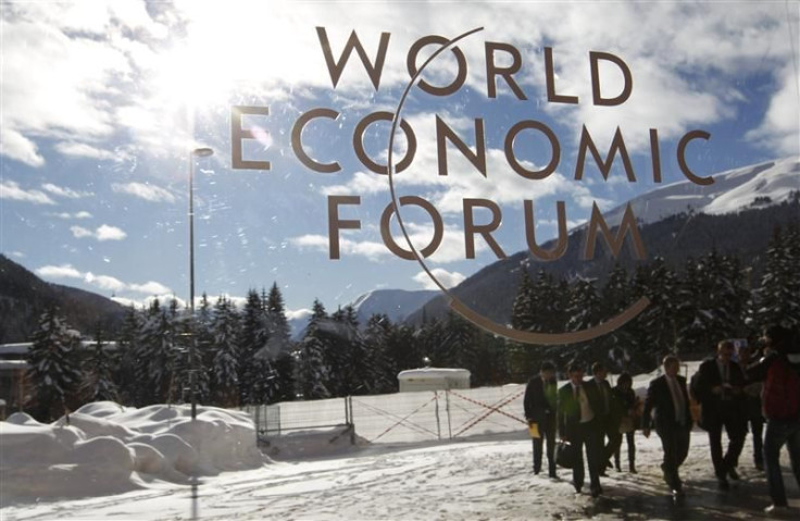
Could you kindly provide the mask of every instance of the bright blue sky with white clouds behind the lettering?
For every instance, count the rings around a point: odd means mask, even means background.
[[[536,208],[538,240],[554,236],[555,201],[571,225],[597,203],[607,210],[655,185],[649,129],[657,128],[663,183],[684,181],[675,159],[689,131],[687,162],[707,176],[759,161],[800,154],[800,4],[776,2],[14,2],[0,7],[0,250],[47,281],[145,302],[188,297],[187,178],[189,151],[214,156],[196,165],[197,293],[242,297],[277,282],[292,311],[320,298],[328,308],[376,288],[434,287],[414,261],[383,245],[379,219],[390,202],[386,176],[361,164],[352,146],[357,123],[374,111],[393,112],[409,83],[407,54],[427,35],[453,38],[466,58],[466,80],[455,94],[410,91],[402,116],[417,151],[396,176],[399,195],[429,200],[445,235],[428,265],[454,285],[497,257],[479,237],[465,259],[462,201],[484,198],[502,210],[495,234],[512,255],[525,248],[523,200]],[[390,33],[376,91],[353,54],[336,88],[316,27],[326,28],[339,58],[351,30],[374,60]],[[498,80],[489,99],[485,42],[513,46],[522,58],[518,100]],[[553,52],[555,88],[576,104],[548,102],[543,48]],[[433,52],[426,47],[418,63]],[[630,97],[616,107],[591,102],[589,52],[609,52],[630,70]],[[510,64],[497,53],[499,66]],[[450,83],[450,51],[424,78]],[[618,67],[601,62],[602,91],[622,91]],[[232,169],[230,108],[268,106],[266,117],[246,119],[263,132],[245,149],[272,169]],[[311,108],[340,113],[303,134],[310,156],[336,160],[341,171],[310,171],[295,157],[291,127]],[[486,127],[484,178],[452,147],[449,175],[438,175],[436,115],[473,149],[475,120]],[[509,128],[546,124],[561,160],[546,179],[514,173],[503,153]],[[617,127],[637,182],[615,161],[603,181],[591,159],[575,181],[577,144],[586,126],[604,154]],[[365,149],[385,161],[388,125],[371,126]],[[398,139],[400,152],[404,140]],[[528,170],[550,161],[541,135],[523,133],[514,147]],[[698,189],[702,189],[698,187]],[[328,258],[330,195],[357,195],[341,219],[361,230],[341,235],[341,259]],[[428,220],[403,209],[415,246],[430,237]],[[475,221],[485,223],[486,211]],[[396,230],[397,232],[397,230]],[[399,238],[398,243],[402,244]]]

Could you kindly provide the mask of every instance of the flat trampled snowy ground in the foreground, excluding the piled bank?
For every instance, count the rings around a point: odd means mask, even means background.
[[[760,519],[768,505],[750,443],[740,462],[741,483],[721,493],[710,470],[707,436],[696,432],[683,469],[687,497],[677,506],[659,477],[658,437],[638,435],[637,446],[639,474],[610,471],[602,480],[605,495],[597,500],[575,495],[566,470],[559,470],[563,481],[534,475],[530,442],[514,434],[449,444],[332,447],[326,458],[223,472],[195,486],[153,481],[111,496],[10,501],[2,519],[723,520]],[[790,504],[800,508],[797,484],[788,471],[785,477]]]

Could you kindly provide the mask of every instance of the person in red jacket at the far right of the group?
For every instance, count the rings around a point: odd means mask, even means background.
[[[780,448],[788,448],[791,471],[800,486],[800,346],[792,344],[789,330],[780,326],[767,328],[764,342],[766,356],[748,371],[752,380],[764,382],[764,468],[772,499],[764,511],[788,516],[791,509],[780,473]]]

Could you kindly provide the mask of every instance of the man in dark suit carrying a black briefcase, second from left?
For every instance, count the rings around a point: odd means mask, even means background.
[[[589,466],[589,486],[591,497],[602,494],[600,469],[602,447],[598,446],[598,423],[591,409],[589,393],[584,385],[584,370],[573,363],[568,369],[570,382],[559,389],[558,423],[559,436],[568,442],[575,450],[575,464],[572,469],[575,492],[584,486],[584,446]],[[592,399],[593,401],[593,399]]]

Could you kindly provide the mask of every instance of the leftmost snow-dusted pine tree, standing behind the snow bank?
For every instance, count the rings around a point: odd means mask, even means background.
[[[83,376],[77,360],[79,345],[80,334],[70,328],[55,309],[41,314],[26,355],[36,418],[52,421],[77,405],[75,393]]]

